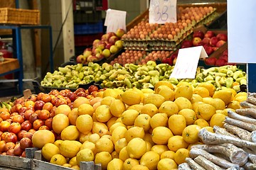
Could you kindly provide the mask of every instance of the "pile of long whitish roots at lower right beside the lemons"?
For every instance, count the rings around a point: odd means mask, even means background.
[[[228,111],[223,128],[213,132],[201,129],[198,137],[204,145],[194,145],[190,158],[178,169],[256,169],[256,94],[249,94],[242,108]]]

